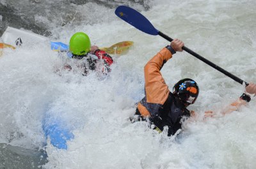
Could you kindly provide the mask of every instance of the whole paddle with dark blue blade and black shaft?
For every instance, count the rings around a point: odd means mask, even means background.
[[[145,18],[140,12],[128,7],[128,6],[118,6],[115,10],[115,14],[127,22],[128,24],[131,24],[132,26],[136,27],[140,31],[143,31],[144,33],[151,34],[151,35],[159,35],[162,36],[164,39],[168,41],[173,41],[172,38],[167,36],[166,34],[161,33],[158,31],[147,18]],[[221,73],[227,75],[228,77],[232,78],[236,82],[239,82],[239,84],[243,84],[243,82],[247,85],[249,85],[244,80],[241,80],[241,78],[236,77],[235,75],[232,75],[228,71],[223,70],[223,68],[220,68],[220,66],[217,66],[216,64],[212,63],[211,61],[208,61],[204,57],[202,57],[199,54],[196,54],[193,50],[190,50],[187,47],[182,47],[183,50],[188,52],[189,54],[195,56],[197,59],[200,59],[201,61],[205,62],[209,66],[212,66],[212,68],[220,71]]]

